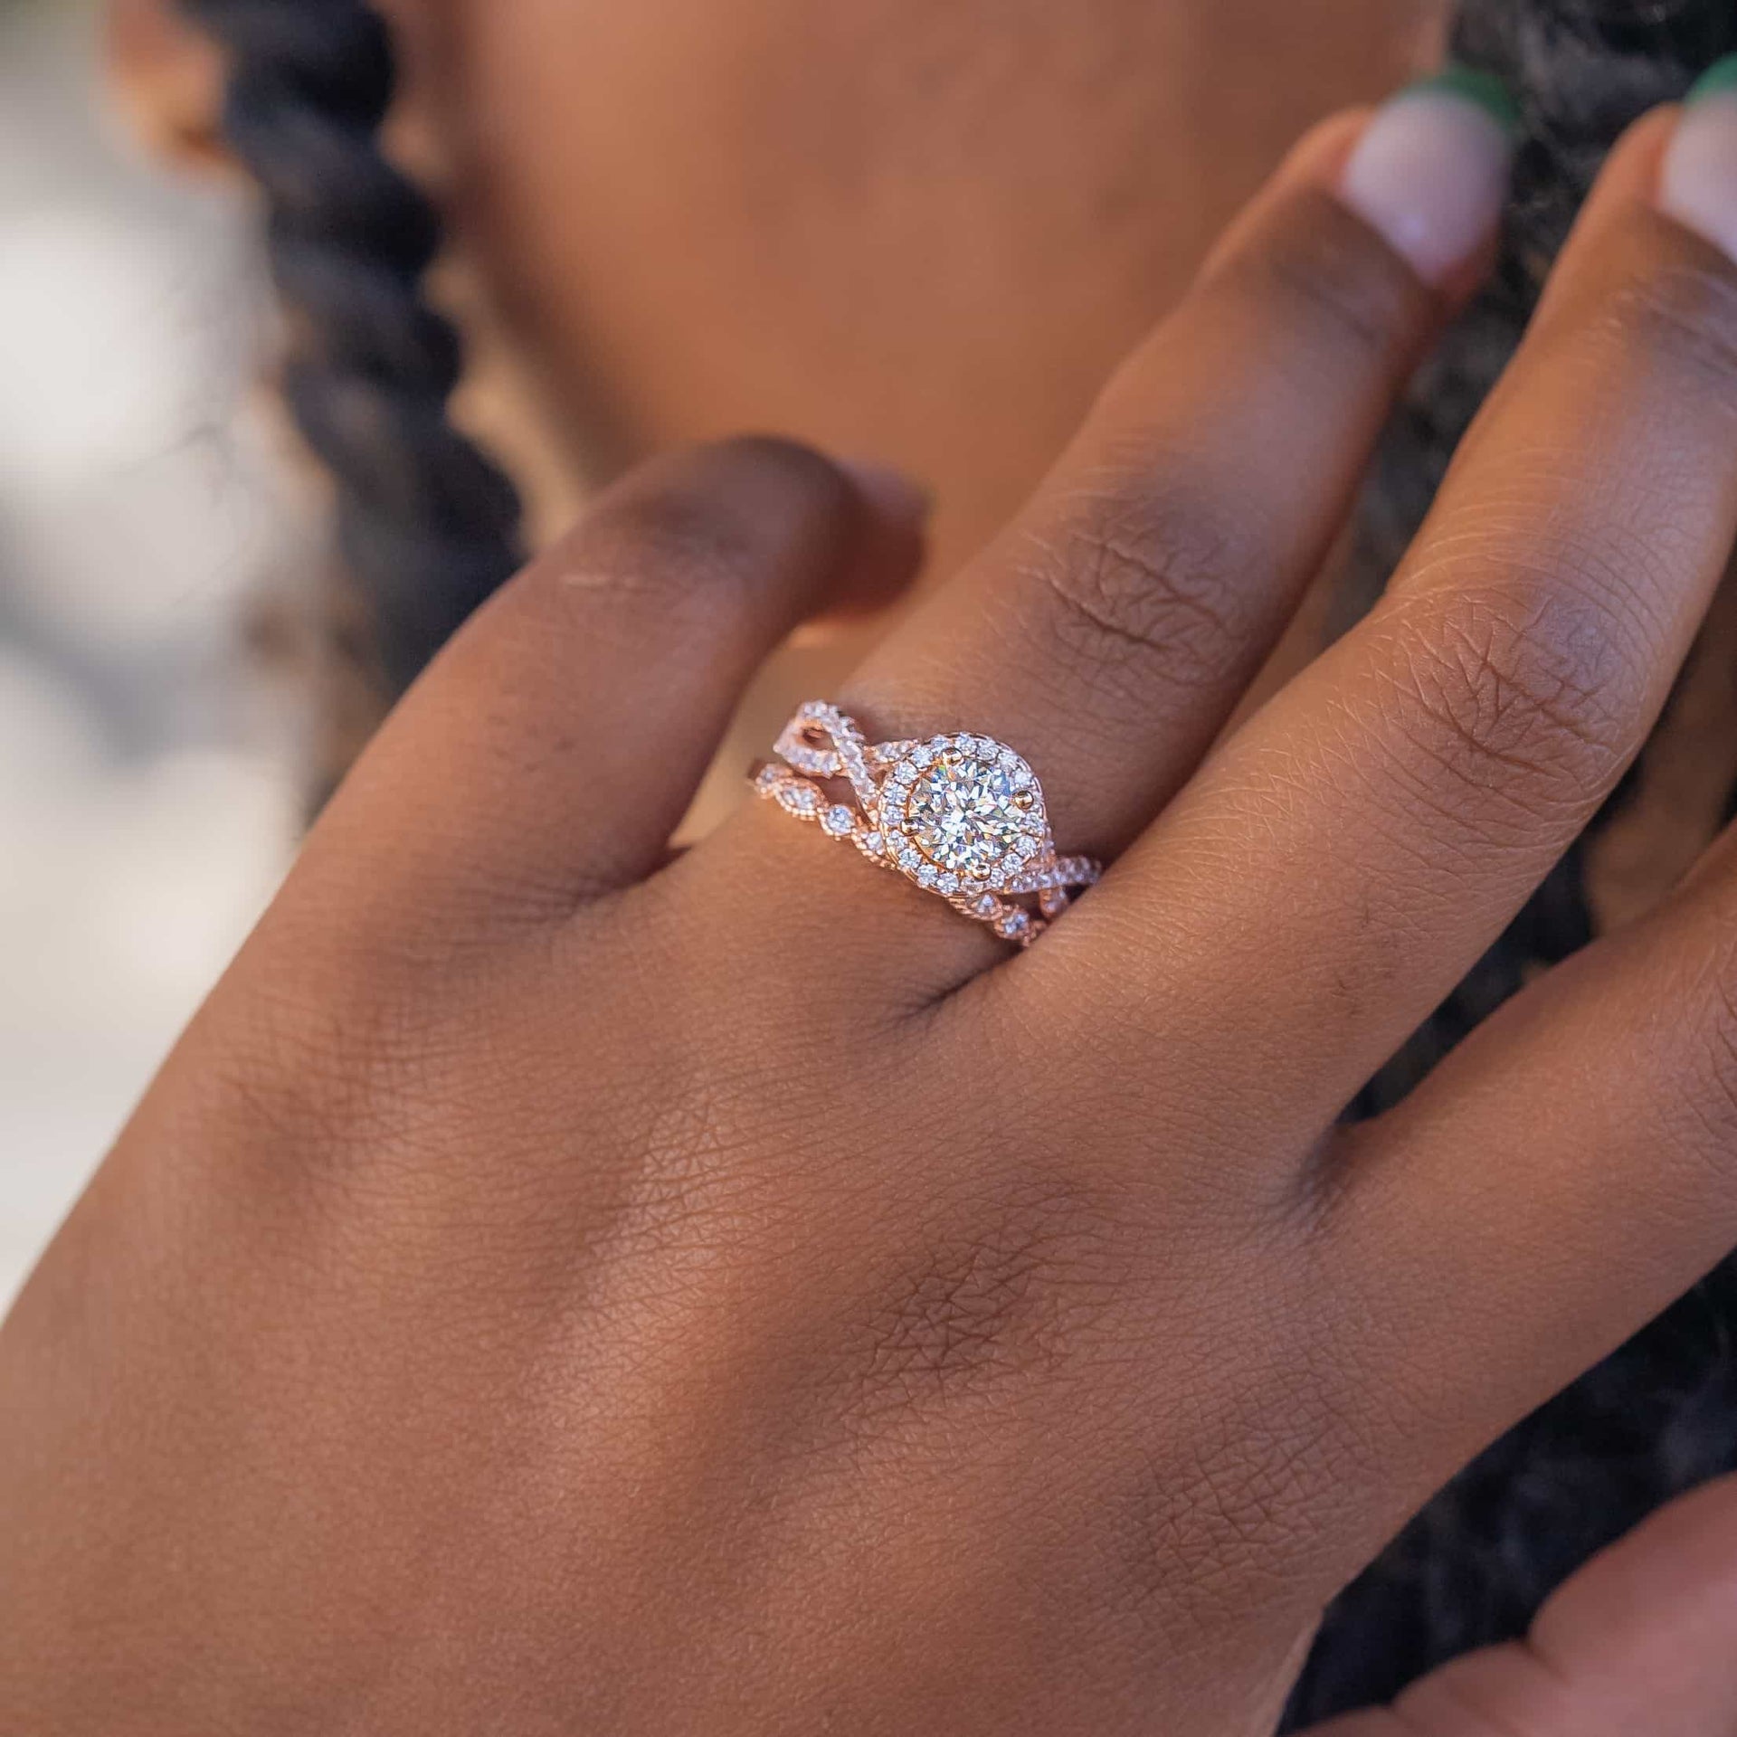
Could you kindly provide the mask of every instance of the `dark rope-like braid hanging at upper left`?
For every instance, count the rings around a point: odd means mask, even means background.
[[[439,215],[387,162],[393,45],[363,0],[181,0],[229,56],[224,132],[266,198],[283,391],[337,490],[386,698],[519,565],[519,497],[446,415],[462,356],[424,297]]]

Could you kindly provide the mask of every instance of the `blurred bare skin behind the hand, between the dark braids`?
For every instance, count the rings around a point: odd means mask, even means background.
[[[935,488],[948,570],[1296,135],[1409,76],[1435,7],[393,10],[558,413],[606,459],[743,427],[872,453]]]

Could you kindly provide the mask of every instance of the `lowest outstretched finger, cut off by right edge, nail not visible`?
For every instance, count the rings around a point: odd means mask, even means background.
[[[1426,1489],[1737,1244],[1737,830],[1327,1162],[1337,1353]]]

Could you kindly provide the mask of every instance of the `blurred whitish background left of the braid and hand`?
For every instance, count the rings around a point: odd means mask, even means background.
[[[144,162],[87,0],[0,0],[0,1310],[271,896],[316,570],[240,188]]]

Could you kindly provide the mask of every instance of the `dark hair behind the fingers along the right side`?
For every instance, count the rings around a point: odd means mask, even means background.
[[[1388,431],[1339,625],[1374,601],[1421,525],[1605,153],[1734,49],[1737,0],[1459,0],[1454,57],[1497,73],[1522,108],[1515,193],[1489,290]],[[1589,938],[1582,856],[1569,853],[1353,1113],[1395,1103],[1530,971]],[[1329,1612],[1285,1728],[1391,1699],[1456,1654],[1523,1635],[1596,1549],[1737,1466],[1734,1336],[1737,1259],[1509,1431],[1400,1534]]]

